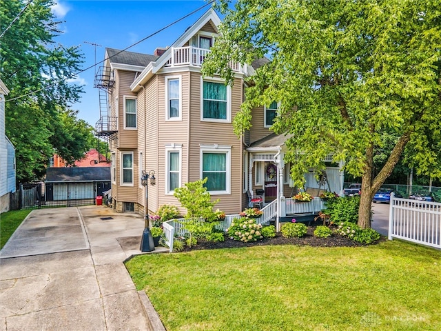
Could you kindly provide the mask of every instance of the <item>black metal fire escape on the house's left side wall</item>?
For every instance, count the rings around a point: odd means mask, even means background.
[[[95,124],[95,132],[105,141],[111,141],[118,137],[117,117],[110,116],[108,97],[114,83],[112,70],[109,67],[100,67],[96,72],[94,83],[94,88],[99,89],[99,121]]]

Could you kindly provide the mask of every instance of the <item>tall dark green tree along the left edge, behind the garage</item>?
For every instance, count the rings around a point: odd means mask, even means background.
[[[29,3],[29,4],[28,4]],[[17,179],[41,179],[54,152],[81,157],[91,131],[68,106],[79,100],[70,83],[82,54],[54,39],[61,33],[52,0],[0,0],[0,79],[8,86],[6,133],[16,148]],[[81,130],[80,130],[81,127]],[[91,147],[91,146],[90,146]]]

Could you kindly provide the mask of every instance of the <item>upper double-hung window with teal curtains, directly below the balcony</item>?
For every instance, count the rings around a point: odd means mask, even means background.
[[[202,81],[202,119],[231,121],[231,88],[222,81]]]

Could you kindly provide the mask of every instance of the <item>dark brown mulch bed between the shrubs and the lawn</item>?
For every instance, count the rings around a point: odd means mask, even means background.
[[[328,238],[318,238],[314,236],[315,227],[308,227],[308,232],[302,238],[285,238],[280,233],[276,233],[274,238],[264,238],[260,241],[252,241],[250,243],[244,243],[243,241],[232,240],[229,237],[225,237],[225,241],[214,243],[212,241],[198,241],[196,246],[192,248],[185,247],[184,251],[189,250],[213,250],[218,248],[240,248],[240,247],[252,247],[261,245],[308,245],[312,247],[359,247],[367,246],[357,241],[352,241],[347,237],[343,237],[340,234],[332,234]],[[379,241],[373,244],[384,241],[382,237]]]

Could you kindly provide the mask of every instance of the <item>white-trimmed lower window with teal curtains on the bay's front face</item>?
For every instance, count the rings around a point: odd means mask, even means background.
[[[201,178],[211,194],[229,194],[231,187],[231,146],[201,148]]]

